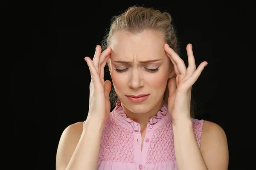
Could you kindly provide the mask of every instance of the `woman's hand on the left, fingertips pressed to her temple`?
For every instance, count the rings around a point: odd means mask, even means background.
[[[111,57],[111,47],[102,52],[100,45],[96,46],[93,61],[90,57],[85,57],[85,61],[90,69],[90,99],[88,119],[96,119],[105,122],[109,116],[111,104],[109,94],[111,91],[111,82],[104,81],[104,68],[107,60]]]

